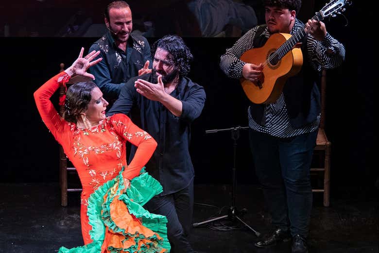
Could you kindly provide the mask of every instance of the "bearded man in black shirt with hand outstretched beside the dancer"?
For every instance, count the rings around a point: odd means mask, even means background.
[[[167,35],[152,48],[152,72],[130,79],[107,116],[127,114],[134,104],[139,107],[141,128],[158,143],[146,170],[163,186],[163,192],[146,208],[167,217],[172,252],[192,253],[187,240],[192,224],[194,178],[189,155],[190,123],[200,116],[206,94],[202,86],[186,77],[193,56],[182,38]]]

